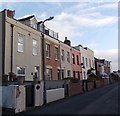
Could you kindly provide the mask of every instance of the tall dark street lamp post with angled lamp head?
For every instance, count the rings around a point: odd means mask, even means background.
[[[44,38],[44,34],[45,34],[45,25],[44,23],[46,21],[50,21],[52,20],[54,17],[50,17],[48,19],[45,19],[44,21],[41,21],[40,23],[42,23],[43,26],[43,32],[42,34],[42,73],[43,73],[43,81],[44,81],[44,92],[43,92],[43,99],[44,99],[44,104],[46,104],[46,66],[45,66],[45,38]]]

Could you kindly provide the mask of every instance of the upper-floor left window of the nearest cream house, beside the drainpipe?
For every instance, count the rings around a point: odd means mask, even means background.
[[[19,44],[22,46],[22,50],[19,48]],[[24,52],[24,45],[25,45],[25,36],[23,34],[18,33],[18,48],[17,48],[17,51],[23,53]]]

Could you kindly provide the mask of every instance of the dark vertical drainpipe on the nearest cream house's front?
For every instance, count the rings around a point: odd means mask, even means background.
[[[14,25],[11,24],[11,67],[10,71],[13,72],[13,27]]]

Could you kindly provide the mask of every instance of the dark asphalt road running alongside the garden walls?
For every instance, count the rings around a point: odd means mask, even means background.
[[[118,114],[119,84],[111,84],[23,114]]]

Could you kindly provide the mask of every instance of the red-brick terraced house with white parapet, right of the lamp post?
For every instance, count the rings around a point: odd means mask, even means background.
[[[55,32],[50,35],[49,29],[46,28],[45,34],[45,64],[46,64],[46,80],[60,80],[60,42]]]

